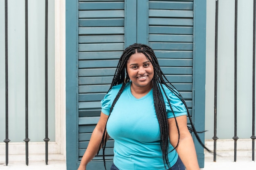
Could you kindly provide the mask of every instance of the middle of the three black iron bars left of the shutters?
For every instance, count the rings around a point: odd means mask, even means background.
[[[29,132],[28,132],[28,7],[25,0],[25,143],[26,165],[29,165]]]

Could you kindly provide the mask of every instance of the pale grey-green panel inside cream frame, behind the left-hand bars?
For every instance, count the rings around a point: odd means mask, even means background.
[[[4,7],[4,1],[0,1]],[[1,11],[4,11],[1,10]],[[1,62],[4,69],[4,13],[1,13]],[[49,2],[48,91],[49,138],[55,141],[54,1]],[[42,141],[45,133],[45,2],[28,1],[28,112],[29,139]],[[0,112],[5,113],[4,73],[0,79]],[[9,139],[25,139],[25,1],[8,1]],[[0,135],[5,134],[5,114],[0,114]]]

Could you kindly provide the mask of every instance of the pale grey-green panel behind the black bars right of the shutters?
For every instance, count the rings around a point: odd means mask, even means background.
[[[215,2],[207,0],[205,139],[213,137]],[[234,137],[235,0],[219,0],[217,137]],[[253,0],[238,0],[238,137],[252,136]]]

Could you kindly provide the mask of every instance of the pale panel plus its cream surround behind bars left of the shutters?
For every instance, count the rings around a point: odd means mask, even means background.
[[[49,159],[65,159],[65,0],[49,1],[48,6]],[[45,154],[45,1],[28,1],[28,20],[29,159],[41,160]],[[0,1],[0,37],[3,80],[0,81],[0,137],[4,140],[4,0]],[[9,155],[22,155],[25,154],[25,1],[8,0],[8,48]],[[0,142],[1,155],[5,155],[4,142]],[[19,159],[25,157],[17,155],[9,160]]]

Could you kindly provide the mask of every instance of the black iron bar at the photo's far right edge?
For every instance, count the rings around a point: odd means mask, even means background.
[[[256,0],[253,3],[253,47],[252,47],[252,161],[254,161],[255,148],[255,30],[256,30]]]

